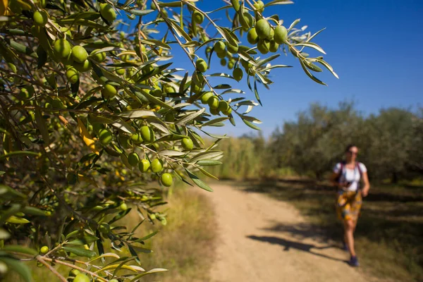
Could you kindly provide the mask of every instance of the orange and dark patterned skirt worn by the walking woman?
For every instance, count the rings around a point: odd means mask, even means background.
[[[336,214],[342,221],[357,221],[362,206],[362,195],[357,191],[338,191],[336,200]]]

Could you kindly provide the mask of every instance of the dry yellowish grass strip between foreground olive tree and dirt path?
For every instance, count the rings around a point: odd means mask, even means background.
[[[146,247],[154,252],[140,255],[141,266],[146,270],[156,267],[169,269],[163,274],[145,276],[145,281],[209,281],[216,224],[212,205],[197,189],[176,189],[166,206],[166,226],[141,226],[140,235],[151,233],[157,227],[161,230],[147,240]],[[128,223],[133,225],[135,221]]]

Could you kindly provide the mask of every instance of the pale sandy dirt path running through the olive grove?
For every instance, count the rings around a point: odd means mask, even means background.
[[[369,281],[290,204],[227,185],[212,188],[219,223],[213,282]]]

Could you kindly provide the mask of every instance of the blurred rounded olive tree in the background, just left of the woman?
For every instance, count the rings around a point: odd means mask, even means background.
[[[270,154],[276,156],[277,167],[290,166],[297,173],[321,178],[342,159],[346,145],[360,140],[361,123],[352,103],[343,102],[336,110],[312,104],[298,113],[297,121],[284,123],[272,134]]]

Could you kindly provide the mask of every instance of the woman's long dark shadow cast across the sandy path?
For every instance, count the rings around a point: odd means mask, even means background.
[[[271,236],[248,235],[247,238],[250,238],[252,240],[266,242],[266,243],[281,245],[281,246],[284,247],[283,250],[286,251],[286,252],[289,251],[290,248],[293,248],[293,249],[296,249],[296,250],[309,252],[310,254],[316,255],[318,257],[324,257],[326,259],[331,259],[331,260],[334,260],[336,262],[348,263],[347,260],[337,259],[336,257],[329,257],[327,255],[319,254],[317,252],[312,251],[312,249],[315,249],[315,250],[329,249],[331,247],[334,247],[333,245],[327,245],[325,247],[317,247],[317,246],[312,245],[312,244],[304,244],[304,243],[299,243],[299,242],[290,241],[290,240],[286,240],[286,239],[278,238],[278,237],[271,237]]]

